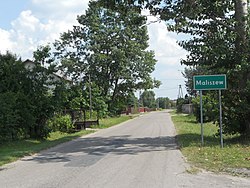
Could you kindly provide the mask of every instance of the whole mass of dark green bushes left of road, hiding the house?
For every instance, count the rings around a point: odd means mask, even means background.
[[[32,68],[14,55],[0,55],[0,142],[46,138],[46,121],[56,110],[50,93],[51,69],[38,62]]]

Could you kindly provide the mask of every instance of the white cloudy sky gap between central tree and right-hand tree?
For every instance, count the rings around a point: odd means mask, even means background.
[[[149,15],[147,11],[143,13]],[[175,99],[179,85],[184,90],[184,78],[181,74],[184,66],[180,64],[185,59],[187,52],[177,44],[180,36],[167,30],[164,22],[155,22],[158,18],[148,16],[149,49],[155,52],[157,60],[152,76],[162,82],[159,89],[154,89],[156,96]],[[184,91],[184,94],[186,92]]]

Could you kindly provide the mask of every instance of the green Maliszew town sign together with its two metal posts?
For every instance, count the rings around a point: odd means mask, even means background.
[[[219,109],[220,109],[220,144],[223,148],[223,130],[222,130],[222,107],[221,90],[227,89],[226,75],[199,75],[193,77],[194,90],[200,91],[200,120],[201,120],[201,145],[204,145],[203,135],[203,109],[202,109],[202,90],[219,90]]]

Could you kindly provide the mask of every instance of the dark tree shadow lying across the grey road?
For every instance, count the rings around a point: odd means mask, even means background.
[[[66,166],[89,166],[107,154],[138,155],[176,150],[175,136],[133,138],[130,135],[85,137],[41,152],[30,159],[38,163],[66,162]]]

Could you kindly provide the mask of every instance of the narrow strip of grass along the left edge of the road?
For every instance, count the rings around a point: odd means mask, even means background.
[[[131,119],[131,116],[102,119],[100,120],[100,125],[96,128],[108,128],[129,119]],[[82,130],[71,134],[52,132],[50,136],[44,140],[24,139],[4,143],[0,145],[0,166],[93,132],[95,132],[95,130]]]

